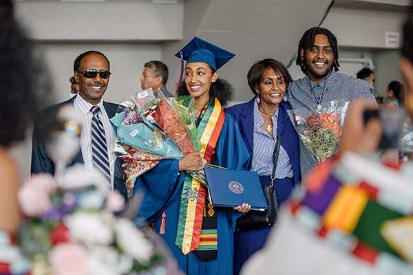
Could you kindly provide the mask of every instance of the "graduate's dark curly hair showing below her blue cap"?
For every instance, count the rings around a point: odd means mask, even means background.
[[[209,88],[209,96],[211,96],[211,98],[216,96],[218,100],[220,100],[222,107],[226,107],[229,104],[234,93],[235,89],[233,85],[222,78],[218,78],[214,83],[211,83],[211,87]],[[189,95],[187,85],[185,85],[184,81],[180,83],[177,94],[178,96]]]

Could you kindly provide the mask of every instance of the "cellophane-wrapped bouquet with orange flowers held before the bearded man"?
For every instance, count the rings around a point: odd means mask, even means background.
[[[336,152],[348,104],[348,101],[334,100],[321,111],[310,115],[288,111],[301,142],[318,162],[323,162]]]

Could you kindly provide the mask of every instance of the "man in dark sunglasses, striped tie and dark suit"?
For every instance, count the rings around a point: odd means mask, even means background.
[[[112,188],[123,188],[122,170],[114,171],[116,163],[113,154],[116,136],[109,121],[118,109],[118,104],[104,102],[103,95],[109,85],[111,75],[110,63],[101,52],[87,51],[74,61],[74,80],[79,85],[76,96],[56,104],[50,109],[59,109],[63,104],[73,104],[83,120],[80,138],[81,151],[72,159],[69,165],[85,164],[86,168],[94,168],[103,180]],[[47,110],[46,110],[47,111]],[[43,115],[44,116],[44,115]],[[42,115],[39,115],[39,119]],[[32,147],[32,173],[54,174],[54,165],[50,159],[45,144],[39,139],[41,133],[34,127]],[[121,190],[122,191],[122,190]]]

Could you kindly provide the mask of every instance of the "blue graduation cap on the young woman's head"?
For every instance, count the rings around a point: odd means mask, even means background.
[[[207,63],[216,71],[230,61],[235,54],[195,36],[175,56],[187,62]]]

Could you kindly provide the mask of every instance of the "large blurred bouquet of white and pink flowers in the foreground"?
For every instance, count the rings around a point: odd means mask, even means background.
[[[21,187],[17,241],[31,274],[140,274],[162,266],[162,252],[149,235],[116,216],[123,196],[93,182],[99,177],[78,166],[59,179],[34,175]]]

